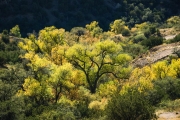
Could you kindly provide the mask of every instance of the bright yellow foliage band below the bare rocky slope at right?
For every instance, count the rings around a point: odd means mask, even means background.
[[[135,68],[121,93],[127,92],[133,86],[137,86],[140,92],[153,89],[153,80],[163,79],[165,77],[179,77],[180,75],[180,59],[173,59],[171,64],[167,61],[159,61],[151,66],[143,68]]]

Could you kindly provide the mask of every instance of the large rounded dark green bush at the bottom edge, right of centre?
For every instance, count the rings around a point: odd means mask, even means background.
[[[111,120],[151,120],[155,117],[154,108],[137,90],[116,93],[106,108],[107,118]]]

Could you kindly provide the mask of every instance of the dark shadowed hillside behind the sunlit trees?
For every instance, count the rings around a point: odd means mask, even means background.
[[[70,30],[98,21],[104,30],[115,19],[128,26],[142,22],[162,23],[179,14],[178,0],[1,0],[0,31],[19,25],[21,33],[55,25]]]

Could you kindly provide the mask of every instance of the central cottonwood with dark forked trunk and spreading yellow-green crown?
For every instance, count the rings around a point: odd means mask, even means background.
[[[112,74],[117,78],[127,75],[131,57],[121,52],[121,45],[106,40],[93,45],[75,44],[66,52],[66,57],[84,73],[91,93],[95,93],[103,75]]]

